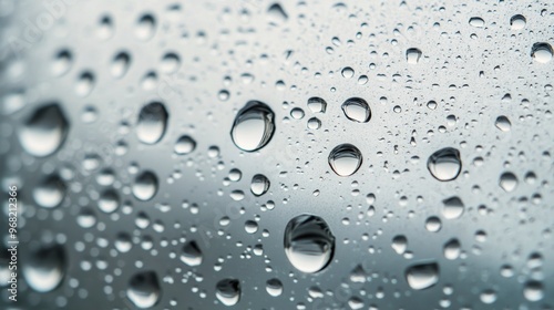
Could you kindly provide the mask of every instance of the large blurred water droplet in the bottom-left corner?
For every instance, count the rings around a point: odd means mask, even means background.
[[[31,254],[23,265],[23,277],[33,290],[48,292],[55,289],[65,276],[65,250],[54,245],[42,247]]]

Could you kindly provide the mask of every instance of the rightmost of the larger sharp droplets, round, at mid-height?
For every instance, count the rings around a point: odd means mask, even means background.
[[[460,152],[453,147],[441,148],[429,156],[427,167],[438,180],[452,180],[462,169]]]

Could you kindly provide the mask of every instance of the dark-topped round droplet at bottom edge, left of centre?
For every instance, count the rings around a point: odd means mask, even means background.
[[[127,298],[141,309],[155,306],[162,296],[157,275],[154,271],[135,273],[129,281]]]

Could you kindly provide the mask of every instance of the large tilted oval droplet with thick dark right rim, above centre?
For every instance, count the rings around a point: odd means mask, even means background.
[[[271,108],[259,101],[250,101],[235,117],[230,137],[238,148],[254,152],[266,146],[274,132],[275,115]]]

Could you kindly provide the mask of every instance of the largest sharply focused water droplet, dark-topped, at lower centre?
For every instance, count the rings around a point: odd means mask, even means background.
[[[293,218],[285,229],[285,254],[298,270],[309,273],[324,269],[332,258],[335,236],[327,223],[314,215]]]

